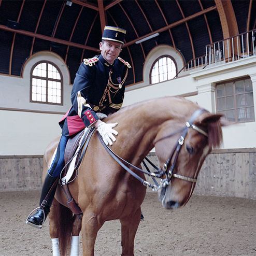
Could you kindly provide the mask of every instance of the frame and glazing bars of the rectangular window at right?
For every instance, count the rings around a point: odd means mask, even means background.
[[[246,92],[246,91],[244,91],[244,93],[238,93],[238,94],[237,94],[237,93],[236,93],[235,82],[237,82],[237,81],[243,81],[243,82],[244,82],[244,81],[247,80],[247,79],[250,79],[250,80],[251,80],[251,78],[250,78],[249,76],[246,76],[246,77],[240,77],[240,78],[231,79],[231,80],[226,80],[226,81],[222,81],[222,82],[216,83],[216,87],[215,87],[216,111],[222,113],[222,111],[232,110],[232,109],[227,109],[227,108],[226,108],[226,98],[229,97],[229,96],[233,96],[233,98],[234,98],[235,120],[232,120],[232,121],[234,121],[235,123],[249,123],[249,122],[255,122],[255,111],[254,111],[254,110],[253,110],[253,113],[254,113],[254,120],[248,120],[247,113],[246,113],[246,120],[245,120],[245,121],[238,121],[238,117],[237,117],[237,110],[238,110],[238,109],[242,109],[241,107],[237,107],[237,99],[236,99],[237,95],[246,95],[246,94],[249,94],[249,93],[252,93],[252,95],[253,95],[253,87],[252,87],[252,91],[251,91],[251,92]],[[217,87],[223,84],[223,85],[224,85],[224,90],[226,91],[225,84],[227,84],[227,83],[233,83],[233,84],[232,84],[232,86],[233,86],[233,95],[226,95],[226,93],[225,93],[224,96],[218,97],[218,96],[217,96]],[[245,86],[245,82],[244,82],[244,86]],[[223,109],[223,110],[219,110],[219,109],[218,109],[218,99],[219,99],[219,98],[225,98],[225,109]],[[246,103],[246,102],[245,102],[245,103]],[[255,109],[254,106],[255,106],[255,103],[254,103],[254,101],[253,101],[253,106],[246,106],[246,105],[245,105],[245,107],[243,107],[243,108],[244,108],[244,109],[247,109],[247,108],[253,107],[253,109]],[[227,118],[227,117],[226,117],[226,118]]]

